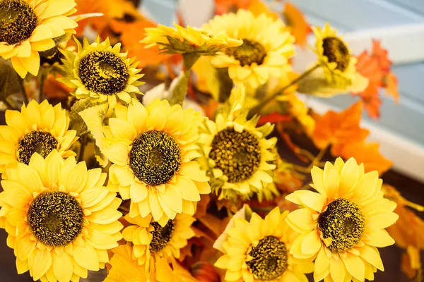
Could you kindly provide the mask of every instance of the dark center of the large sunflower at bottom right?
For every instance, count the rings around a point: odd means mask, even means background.
[[[318,217],[318,227],[324,239],[330,238],[331,252],[345,252],[358,244],[365,231],[365,218],[351,200],[339,198],[329,203]]]

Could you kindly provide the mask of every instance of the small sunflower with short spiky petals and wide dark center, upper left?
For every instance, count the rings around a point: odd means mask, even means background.
[[[126,53],[120,53],[121,44],[110,46],[109,38],[100,43],[100,37],[92,44],[84,38],[83,46],[78,40],[78,53],[61,51],[63,71],[67,73],[59,78],[66,86],[76,89],[71,92],[77,99],[89,98],[93,103],[107,101],[113,109],[117,99],[129,104],[135,93],[141,93],[137,86],[142,85],[139,79],[141,69],[135,58],[127,58]]]

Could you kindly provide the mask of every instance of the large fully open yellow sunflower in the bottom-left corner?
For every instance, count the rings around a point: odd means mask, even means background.
[[[6,177],[5,177],[6,175]],[[103,186],[106,173],[74,157],[33,154],[29,165],[6,168],[1,181],[0,227],[15,250],[18,273],[35,281],[79,281],[109,261],[118,246],[122,200]]]

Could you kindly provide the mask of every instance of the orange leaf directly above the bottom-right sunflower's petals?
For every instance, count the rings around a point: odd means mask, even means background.
[[[382,175],[393,163],[384,158],[378,149],[378,143],[355,142],[343,146],[338,155],[343,159],[354,157],[358,164],[364,164],[365,172],[378,171],[379,175]]]

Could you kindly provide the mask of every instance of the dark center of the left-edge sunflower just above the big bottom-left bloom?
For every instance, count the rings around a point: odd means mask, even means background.
[[[18,161],[29,164],[34,153],[46,158],[53,149],[57,149],[58,144],[59,142],[53,137],[52,133],[33,130],[23,135],[19,140]]]

